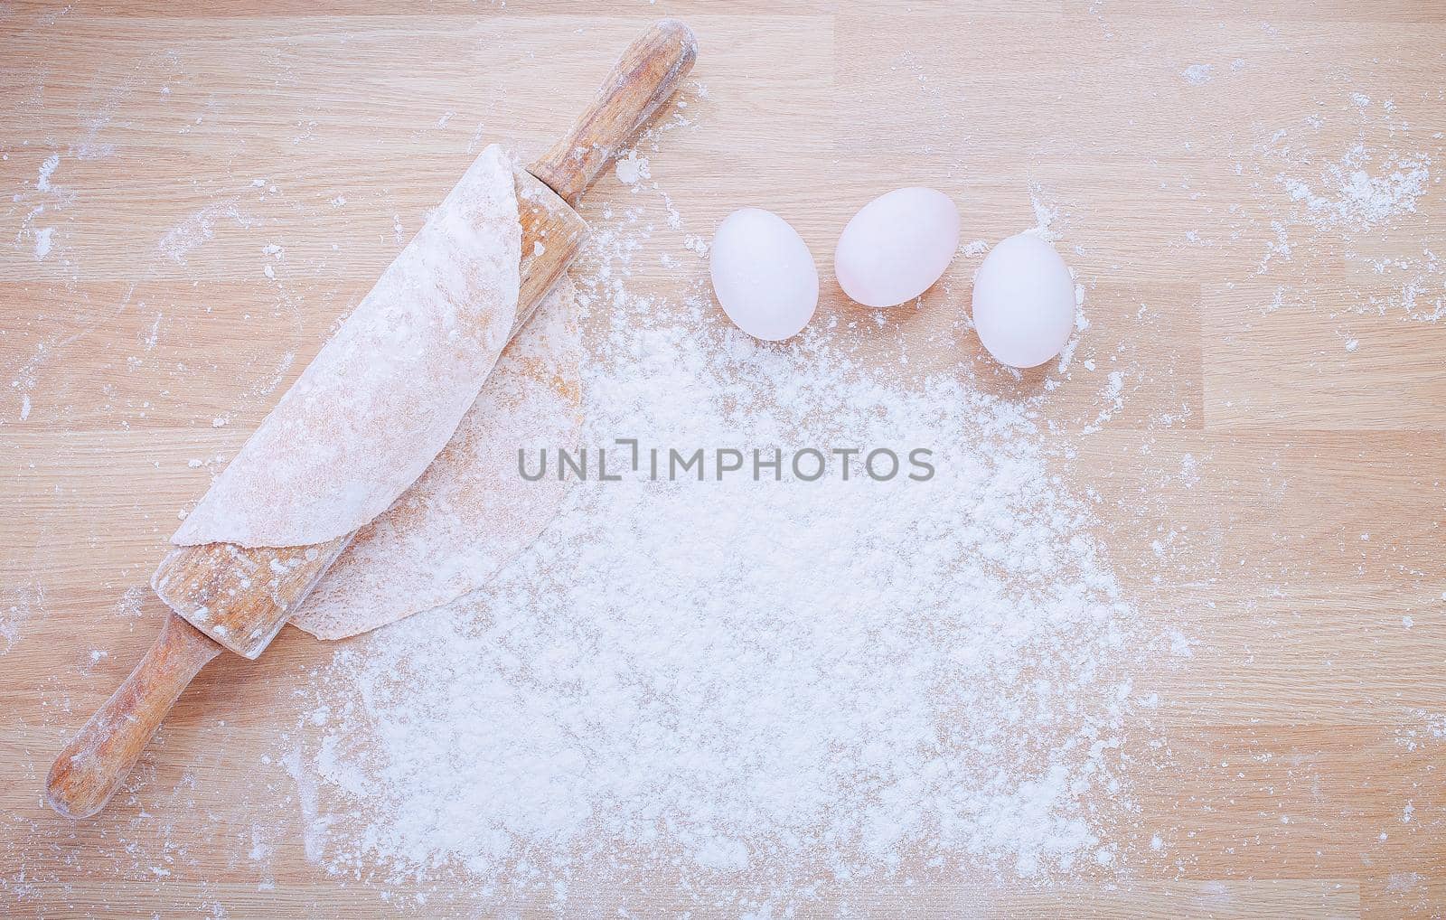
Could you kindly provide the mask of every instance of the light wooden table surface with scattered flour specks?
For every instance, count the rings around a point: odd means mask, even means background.
[[[1129,826],[1160,852],[852,908],[1446,911],[1446,6],[412,6],[0,3],[0,914],[429,913],[309,862],[296,783],[259,767],[330,660],[295,629],[208,668],[97,820],[48,812],[42,780],[155,636],[145,584],[210,460],[482,145],[539,152],[661,14],[696,29],[696,82],[651,181],[607,175],[584,208],[658,221],[632,284],[681,289],[706,265],[658,253],[756,204],[818,255],[820,320],[860,318],[827,253],[873,195],[946,189],[966,240],[1056,211],[1090,324],[1050,421],[1128,590],[1189,649],[1137,677],[1158,707],[1124,752]],[[1291,198],[1290,176],[1329,192],[1332,166],[1392,162],[1429,178],[1368,227]],[[956,327],[976,266],[962,255],[898,334]],[[1043,379],[950,341],[927,360],[1009,392]],[[257,862],[262,812],[282,832]],[[570,904],[729,913],[665,887]],[[497,908],[461,891],[438,910]]]

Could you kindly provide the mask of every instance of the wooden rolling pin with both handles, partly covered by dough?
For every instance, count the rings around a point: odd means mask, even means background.
[[[672,95],[696,58],[697,39],[685,25],[654,23],[628,46],[568,135],[516,172],[522,281],[512,336],[581,247],[587,224],[574,210],[578,198]],[[51,807],[67,817],[106,807],[187,684],[223,649],[260,655],[351,537],[307,547],[211,542],[171,550],[150,580],[171,608],[161,636],[55,758],[45,781]]]

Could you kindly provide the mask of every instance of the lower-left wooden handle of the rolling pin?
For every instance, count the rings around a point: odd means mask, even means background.
[[[55,758],[45,780],[49,806],[65,817],[90,817],[104,809],[172,703],[218,654],[220,645],[169,613],[126,683]]]

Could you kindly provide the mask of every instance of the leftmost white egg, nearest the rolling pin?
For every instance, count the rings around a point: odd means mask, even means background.
[[[723,218],[709,271],[723,312],[755,338],[797,336],[818,307],[818,268],[808,246],[788,221],[762,208]]]

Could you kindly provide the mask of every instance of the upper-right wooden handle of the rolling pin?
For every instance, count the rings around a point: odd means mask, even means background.
[[[577,207],[613,153],[628,146],[678,88],[697,56],[691,29],[677,19],[655,22],[617,59],[573,129],[529,172]]]

